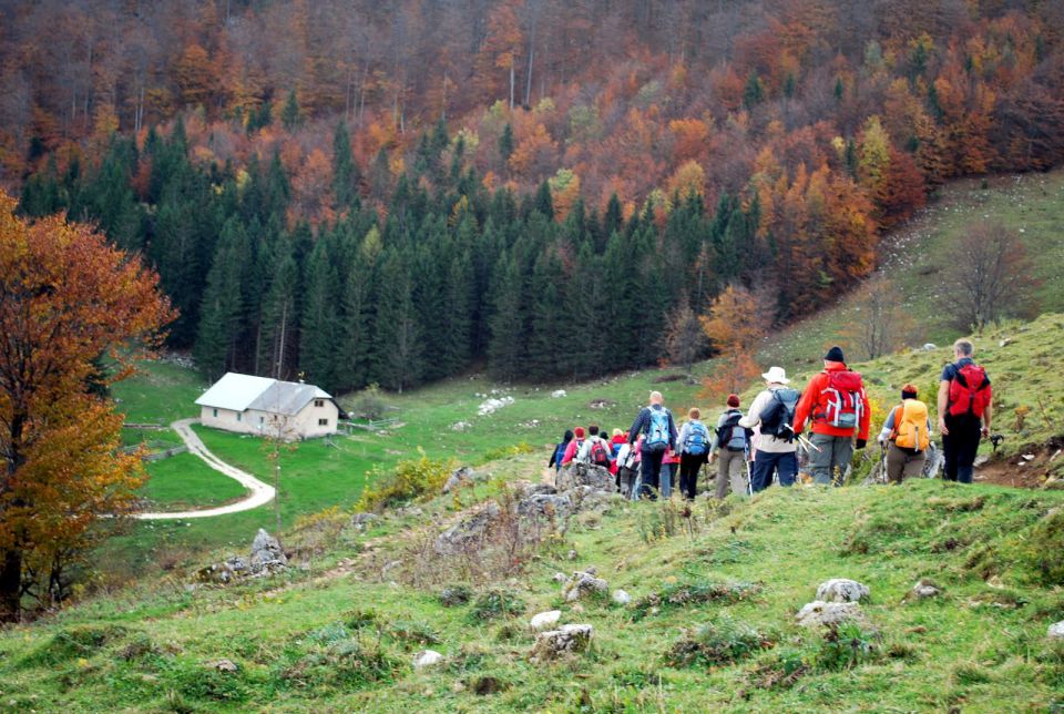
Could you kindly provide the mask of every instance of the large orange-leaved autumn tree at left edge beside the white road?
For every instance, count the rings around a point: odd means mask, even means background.
[[[115,453],[122,418],[92,386],[158,347],[175,313],[157,284],[91,227],[27,222],[0,192],[0,622],[41,581],[62,595],[58,563],[83,551],[99,516],[133,506],[142,468]]]

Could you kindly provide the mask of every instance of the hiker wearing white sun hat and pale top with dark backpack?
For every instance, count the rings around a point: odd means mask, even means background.
[[[750,479],[754,493],[771,484],[773,471],[779,472],[780,486],[794,486],[798,477],[798,445],[792,425],[800,395],[787,386],[790,379],[782,367],[769,367],[761,378],[765,379],[765,390],[757,395],[747,415],[739,419],[740,427],[758,429]]]

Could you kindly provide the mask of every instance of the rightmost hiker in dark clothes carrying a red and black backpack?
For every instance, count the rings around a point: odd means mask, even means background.
[[[939,431],[945,457],[948,481],[972,482],[975,451],[982,438],[990,436],[993,390],[986,370],[972,358],[972,343],[953,343],[954,363],[942,370],[939,381]]]

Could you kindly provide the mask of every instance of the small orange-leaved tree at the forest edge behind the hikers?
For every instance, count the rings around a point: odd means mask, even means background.
[[[719,353],[713,374],[703,380],[705,396],[719,398],[739,391],[760,371],[753,355],[771,322],[771,309],[765,303],[757,293],[729,285],[702,317],[702,328]]]

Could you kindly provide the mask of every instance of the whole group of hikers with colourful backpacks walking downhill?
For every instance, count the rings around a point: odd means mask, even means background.
[[[974,360],[966,339],[953,345],[954,361],[939,381],[938,431],[942,437],[947,480],[971,483],[975,452],[990,436],[992,390],[986,370]],[[740,409],[738,395],[729,395],[725,410],[710,429],[698,408],[687,412],[677,429],[659,391],[652,391],[627,432],[612,435],[597,425],[566,431],[549,466],[561,469],[574,461],[610,469],[617,490],[632,500],[669,498],[678,467],[681,494],[697,493],[703,465],[717,461],[715,496],[757,493],[774,481],[792,486],[798,479],[799,450],[815,483],[840,486],[855,449],[868,443],[871,410],[859,373],[846,365],[840,347],[823,356],[823,370],[802,391],[791,388],[787,373],[771,367],[761,375],[765,389],[749,409]],[[804,431],[809,428],[809,436]],[[927,404],[917,387],[901,387],[879,432],[884,472],[889,482],[919,476],[933,434]]]

